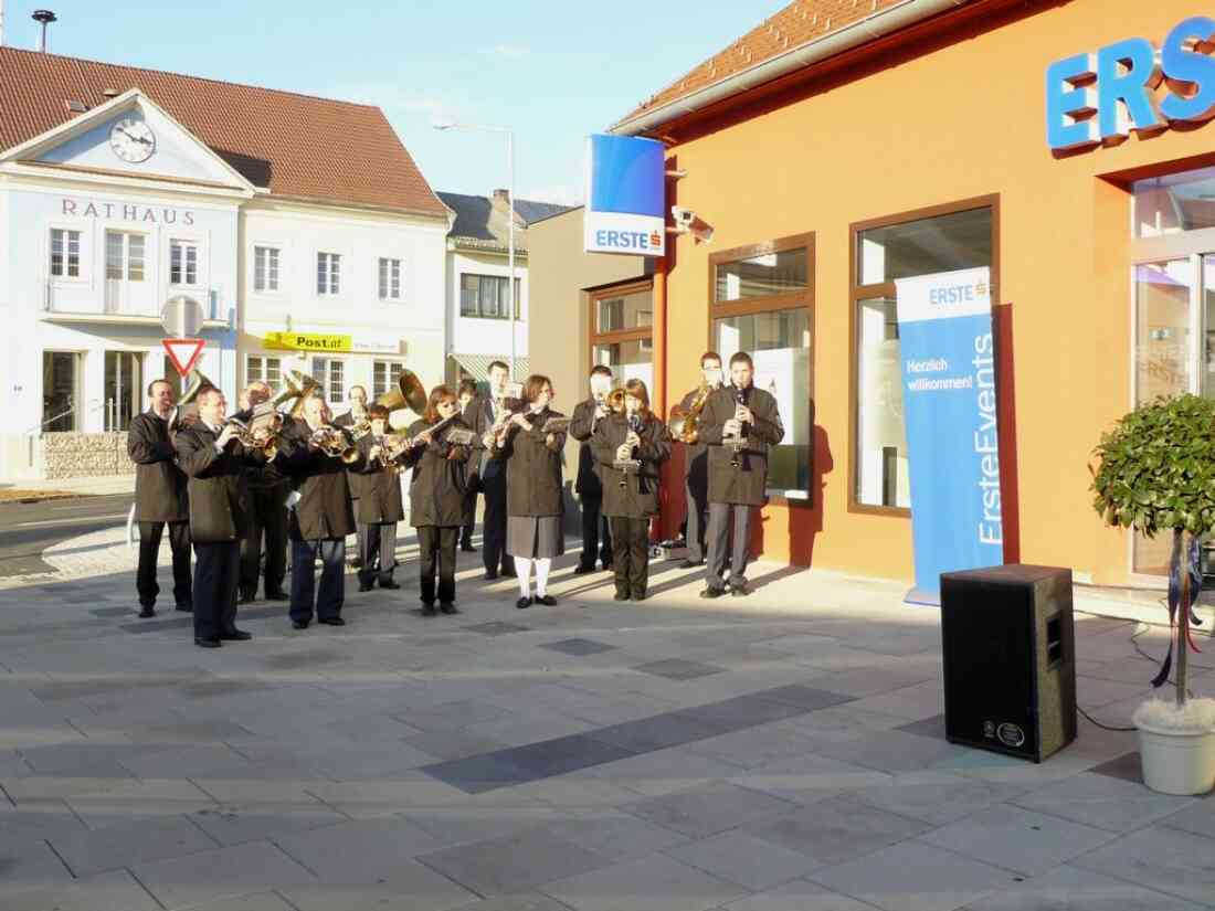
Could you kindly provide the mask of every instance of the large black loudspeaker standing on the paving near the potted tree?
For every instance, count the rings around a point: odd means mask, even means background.
[[[1075,740],[1072,571],[940,576],[945,736],[1040,763]]]

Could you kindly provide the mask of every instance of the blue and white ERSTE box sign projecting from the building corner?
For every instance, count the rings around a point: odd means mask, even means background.
[[[666,154],[657,140],[595,135],[587,140],[588,253],[666,253]]]

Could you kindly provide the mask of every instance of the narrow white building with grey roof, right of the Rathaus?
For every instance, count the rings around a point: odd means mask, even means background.
[[[439,193],[456,215],[447,237],[448,384],[465,377],[482,383],[493,361],[510,361],[509,227],[505,189],[493,196]],[[553,203],[515,200],[515,370],[530,373],[527,356],[527,225],[565,211]],[[536,364],[543,372],[543,364]]]

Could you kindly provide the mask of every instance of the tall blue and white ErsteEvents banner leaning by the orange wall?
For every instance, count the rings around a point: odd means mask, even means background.
[[[989,271],[895,281],[911,482],[915,588],[940,604],[940,573],[1004,564]]]

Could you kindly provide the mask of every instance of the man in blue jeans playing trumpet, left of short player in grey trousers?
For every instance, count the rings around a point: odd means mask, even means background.
[[[329,455],[317,442],[316,432],[337,430],[329,423],[329,406],[321,396],[304,401],[304,419],[281,437],[279,459],[299,498],[292,510],[292,606],[295,629],[307,629],[316,618],[332,627],[344,627],[341,607],[346,601],[346,536],[355,531],[346,464]],[[316,559],[321,558],[321,585],[316,584]]]

